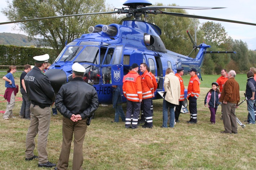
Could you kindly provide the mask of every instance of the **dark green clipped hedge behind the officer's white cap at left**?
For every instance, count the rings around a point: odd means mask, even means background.
[[[34,65],[33,57],[44,54],[49,54],[51,64],[58,56],[56,50],[53,49],[0,45],[0,65]],[[6,67],[0,67],[0,69],[6,69]]]

